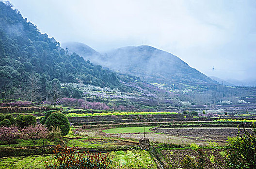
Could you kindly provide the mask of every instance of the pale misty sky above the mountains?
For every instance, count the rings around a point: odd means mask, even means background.
[[[256,0],[10,2],[58,42],[82,42],[99,52],[146,44],[208,76],[256,80]]]

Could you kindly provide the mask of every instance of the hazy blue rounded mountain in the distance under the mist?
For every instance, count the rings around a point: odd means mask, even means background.
[[[103,55],[88,56],[84,49],[68,46],[70,50],[96,64],[121,73],[138,76],[151,83],[216,84],[217,82],[191,68],[177,56],[160,49],[142,45],[122,47]],[[87,46],[87,45],[86,45]],[[92,59],[92,57],[94,57]]]

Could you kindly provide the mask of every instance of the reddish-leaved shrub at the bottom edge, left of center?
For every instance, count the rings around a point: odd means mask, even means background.
[[[73,148],[61,148],[53,151],[54,159],[49,158],[45,163],[46,169],[112,169],[109,154],[79,153]]]

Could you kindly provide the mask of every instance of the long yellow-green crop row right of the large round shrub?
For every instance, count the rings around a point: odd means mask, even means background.
[[[108,112],[108,113],[68,113],[67,117],[84,117],[97,115],[147,115],[147,114],[177,114],[176,112]]]

